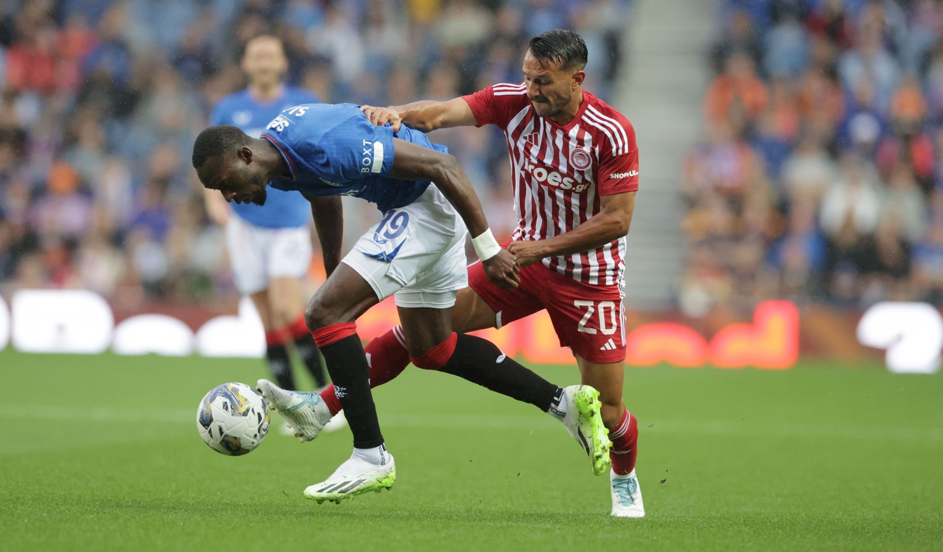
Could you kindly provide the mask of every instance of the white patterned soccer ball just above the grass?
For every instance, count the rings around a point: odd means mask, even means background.
[[[269,432],[269,404],[244,383],[223,383],[200,401],[196,428],[216,452],[249,454]]]

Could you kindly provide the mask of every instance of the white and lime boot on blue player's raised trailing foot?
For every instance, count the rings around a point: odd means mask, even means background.
[[[586,451],[592,473],[602,476],[609,469],[612,442],[600,414],[603,405],[599,402],[599,392],[588,385],[571,385],[564,388],[563,398],[567,409],[563,425]]]

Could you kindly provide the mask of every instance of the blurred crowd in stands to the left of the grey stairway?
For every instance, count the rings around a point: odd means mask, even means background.
[[[322,101],[395,105],[520,82],[526,41],[569,27],[591,52],[587,88],[606,97],[619,76],[626,4],[2,2],[0,293],[83,288],[127,308],[231,299],[223,232],[207,221],[190,149],[211,106],[245,86],[241,48],[257,34],[285,42],[287,80]],[[509,233],[500,131],[453,129],[434,140],[461,160],[492,227]],[[349,244],[379,217],[362,201],[346,209]]]

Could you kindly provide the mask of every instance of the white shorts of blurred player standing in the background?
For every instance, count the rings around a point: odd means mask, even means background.
[[[265,228],[233,213],[226,225],[226,244],[236,289],[244,294],[268,289],[272,278],[302,278],[311,264],[307,226]]]

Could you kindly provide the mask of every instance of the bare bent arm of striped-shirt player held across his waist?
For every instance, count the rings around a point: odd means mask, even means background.
[[[528,266],[547,257],[591,251],[628,234],[636,207],[636,192],[603,195],[600,204],[602,211],[569,232],[536,242],[511,242],[507,250],[518,259],[518,264]]]

